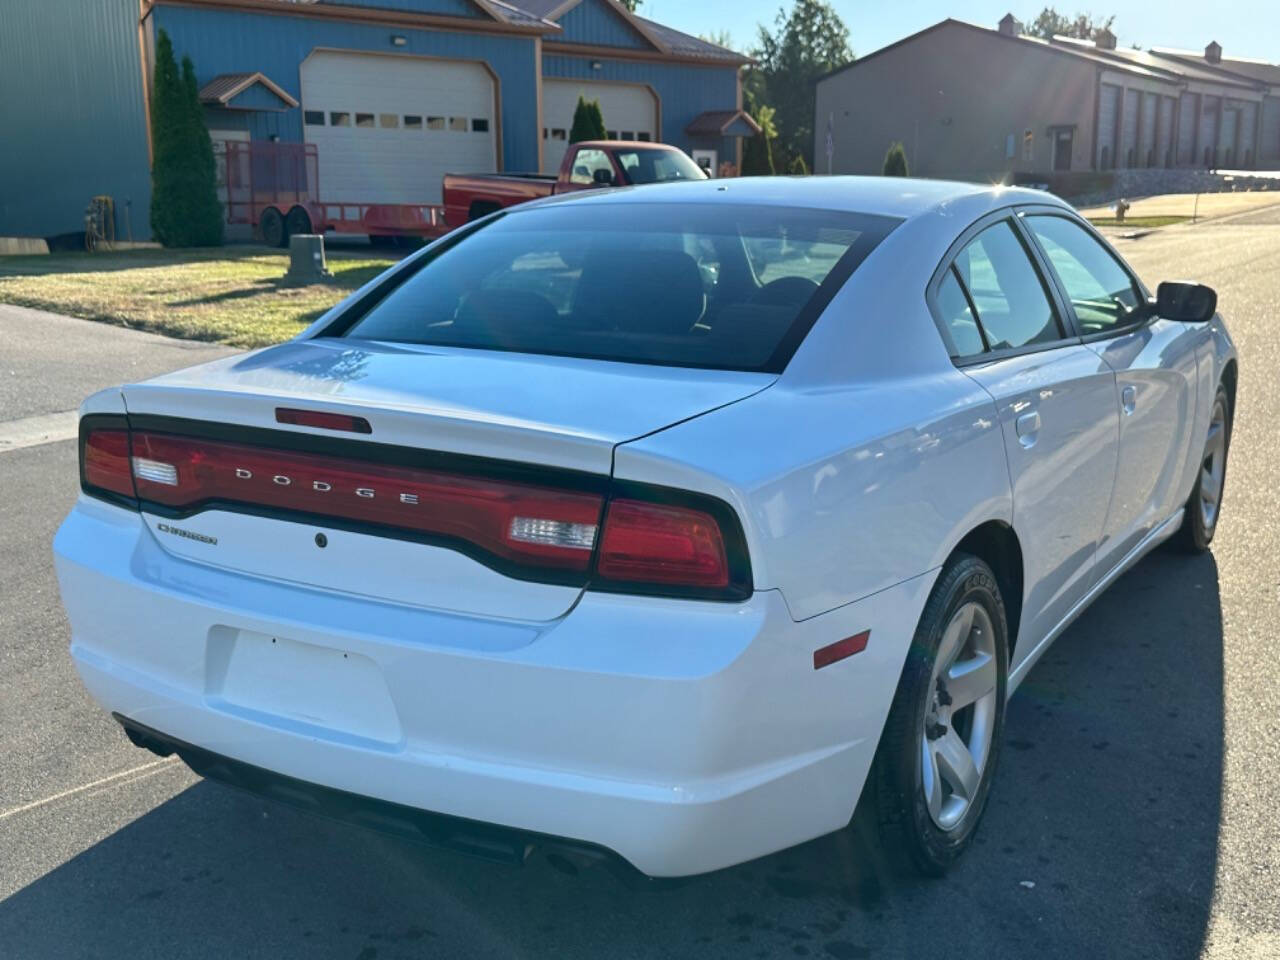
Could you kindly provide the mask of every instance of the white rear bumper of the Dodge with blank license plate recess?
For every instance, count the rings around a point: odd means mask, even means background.
[[[801,623],[777,591],[586,593],[521,623],[182,561],[138,515],[87,498],[54,552],[90,692],[214,758],[206,771],[570,838],[650,876],[849,820],[933,579]],[[814,649],[868,628],[863,653],[813,668]]]

